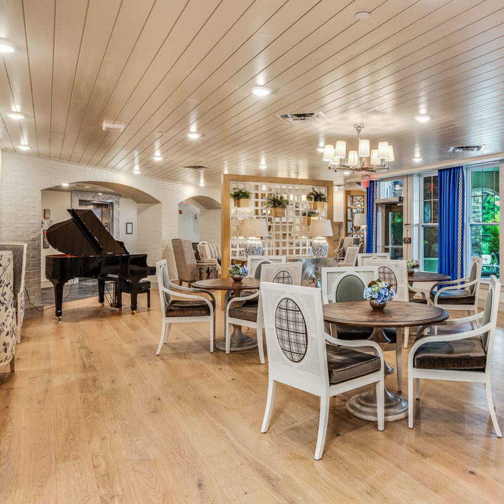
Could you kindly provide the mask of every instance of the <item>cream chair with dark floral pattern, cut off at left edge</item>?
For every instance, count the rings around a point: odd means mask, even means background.
[[[12,251],[0,250],[0,366],[11,364],[11,371],[16,353],[13,264]]]

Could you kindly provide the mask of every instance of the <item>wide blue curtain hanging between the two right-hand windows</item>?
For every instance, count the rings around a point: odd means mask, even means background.
[[[437,172],[439,192],[439,261],[437,271],[452,280],[464,276],[464,171],[462,166]]]

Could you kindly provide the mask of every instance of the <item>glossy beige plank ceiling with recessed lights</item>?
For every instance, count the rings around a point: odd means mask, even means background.
[[[500,0],[0,0],[16,47],[0,147],[184,183],[202,165],[212,187],[226,171],[328,178],[317,147],[355,148],[359,121],[394,145],[393,169],[473,156],[452,145],[502,153],[503,21]],[[299,112],[327,122],[275,117]]]

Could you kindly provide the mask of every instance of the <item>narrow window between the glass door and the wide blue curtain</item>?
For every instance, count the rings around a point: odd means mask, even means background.
[[[437,272],[438,196],[437,175],[424,175],[422,183],[422,270]]]

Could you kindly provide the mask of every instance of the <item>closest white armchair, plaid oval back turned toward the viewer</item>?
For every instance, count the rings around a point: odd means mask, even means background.
[[[316,460],[324,452],[332,396],[375,383],[378,430],[383,430],[384,359],[380,346],[373,341],[344,341],[326,334],[319,289],[285,289],[284,285],[265,282],[261,284],[261,301],[268,345],[268,396],[261,432],[269,427],[277,383],[320,397]],[[352,348],[364,343],[374,355]]]

